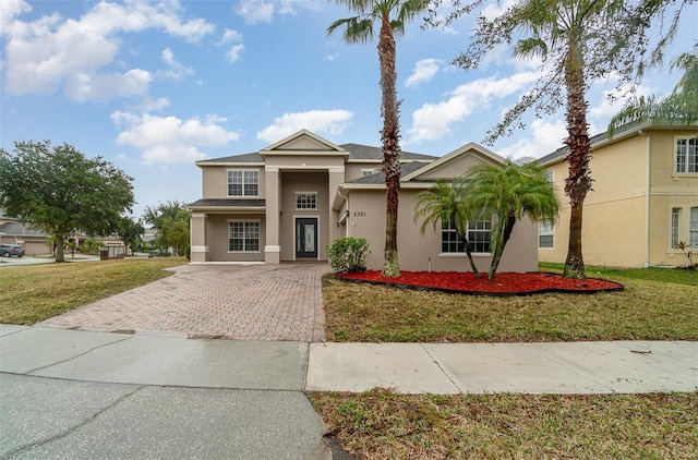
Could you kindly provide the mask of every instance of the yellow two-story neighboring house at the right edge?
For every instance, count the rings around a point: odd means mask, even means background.
[[[585,199],[582,254],[588,265],[649,267],[686,263],[678,242],[698,252],[698,126],[655,122],[591,138],[593,191]],[[540,226],[539,259],[564,263],[569,201],[564,148],[539,160],[561,198],[559,221]]]

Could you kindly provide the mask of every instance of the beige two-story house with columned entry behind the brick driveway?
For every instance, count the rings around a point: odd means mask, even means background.
[[[300,131],[258,153],[197,161],[203,197],[191,210],[191,261],[327,261],[326,246],[341,237],[365,238],[370,269],[381,269],[385,245],[385,181],[381,148],[335,145]],[[480,162],[504,159],[477,144],[443,158],[404,152],[398,214],[398,251],[405,270],[469,269],[449,229],[414,220],[416,194],[437,179],[462,174]],[[471,222],[478,268],[490,264],[490,221]],[[538,267],[537,225],[519,222],[500,271]]]

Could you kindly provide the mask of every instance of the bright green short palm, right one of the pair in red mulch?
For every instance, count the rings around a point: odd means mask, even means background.
[[[469,206],[493,216],[492,263],[488,279],[492,281],[506,243],[517,220],[553,222],[559,204],[553,185],[535,162],[518,166],[507,160],[502,166],[478,165],[465,178]]]

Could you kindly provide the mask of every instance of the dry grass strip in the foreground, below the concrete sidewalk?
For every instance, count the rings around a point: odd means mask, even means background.
[[[329,432],[360,459],[689,459],[698,394],[311,394]]]

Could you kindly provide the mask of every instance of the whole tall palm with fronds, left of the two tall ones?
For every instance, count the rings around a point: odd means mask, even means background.
[[[365,44],[373,38],[373,23],[381,23],[378,34],[378,62],[381,66],[381,114],[383,116],[383,172],[387,187],[385,252],[383,276],[400,276],[397,253],[397,208],[400,191],[400,120],[395,81],[395,35],[405,33],[405,24],[426,10],[430,0],[336,0],[354,16],[337,20],[328,28],[332,34],[344,27],[342,38],[348,44]]]

